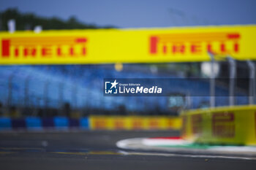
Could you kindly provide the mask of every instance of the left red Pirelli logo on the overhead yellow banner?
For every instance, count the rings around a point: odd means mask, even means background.
[[[84,58],[83,36],[13,37],[1,39],[1,58]]]

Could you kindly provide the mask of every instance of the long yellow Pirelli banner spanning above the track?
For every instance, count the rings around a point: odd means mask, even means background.
[[[255,60],[255,44],[256,26],[1,32],[0,64]]]

